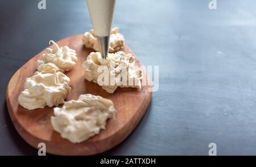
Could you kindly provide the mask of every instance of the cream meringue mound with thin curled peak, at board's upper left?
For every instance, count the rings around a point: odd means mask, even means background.
[[[46,53],[38,61],[36,69],[43,73],[71,70],[77,62],[76,51],[68,48],[68,46],[60,48],[54,41],[49,41],[49,44],[53,44],[53,49],[46,48]]]

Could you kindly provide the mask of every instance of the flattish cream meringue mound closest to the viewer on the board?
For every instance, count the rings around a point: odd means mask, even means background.
[[[105,129],[106,121],[115,112],[113,102],[101,96],[80,95],[78,100],[54,108],[53,129],[72,143],[80,143]]]

